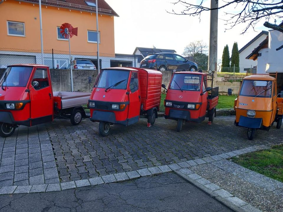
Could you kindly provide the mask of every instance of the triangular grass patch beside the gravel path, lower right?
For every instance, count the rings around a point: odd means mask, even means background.
[[[233,157],[232,161],[267,177],[283,182],[283,145],[270,150]]]

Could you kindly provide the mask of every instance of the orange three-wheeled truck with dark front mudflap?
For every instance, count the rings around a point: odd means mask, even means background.
[[[236,126],[248,128],[248,138],[254,138],[256,129],[269,130],[274,122],[282,124],[283,98],[277,97],[276,78],[268,74],[255,74],[243,79],[235,100]]]

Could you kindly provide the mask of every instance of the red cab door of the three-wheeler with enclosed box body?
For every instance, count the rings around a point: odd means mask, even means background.
[[[139,74],[136,71],[131,72],[128,91],[129,91],[128,125],[131,125],[139,121],[140,108],[141,108]]]

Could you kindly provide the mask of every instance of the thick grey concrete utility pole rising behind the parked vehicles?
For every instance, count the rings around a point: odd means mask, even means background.
[[[210,8],[218,8],[218,0],[210,0]],[[208,69],[217,71],[218,9],[210,10]]]

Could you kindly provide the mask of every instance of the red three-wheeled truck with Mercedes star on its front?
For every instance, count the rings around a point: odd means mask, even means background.
[[[187,121],[200,123],[206,116],[210,124],[213,121],[218,104],[218,87],[211,89],[207,86],[207,80],[208,74],[205,73],[173,73],[164,101],[165,118],[177,120],[178,132]],[[162,87],[166,89],[164,84]]]

